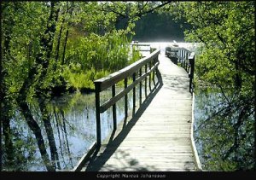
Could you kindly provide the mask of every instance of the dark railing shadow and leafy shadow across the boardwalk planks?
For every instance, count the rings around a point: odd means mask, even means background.
[[[158,83],[154,86],[154,89],[148,94],[147,99],[142,103],[140,108],[137,110],[136,113],[133,114],[133,117],[129,120],[129,122],[126,125],[126,120],[124,120],[124,125],[122,131],[119,132],[119,134],[113,139],[113,136],[115,135],[115,131],[113,131],[108,144],[104,151],[102,153],[100,152],[100,149],[96,149],[96,152],[92,155],[90,158],[90,161],[87,165],[85,165],[84,171],[150,171],[150,169],[154,168],[153,166],[141,166],[138,165],[138,162],[136,159],[131,157],[131,154],[125,153],[124,150],[119,150],[116,152],[117,148],[119,148],[119,145],[121,142],[125,140],[125,137],[129,134],[131,131],[131,128],[136,125],[137,120],[142,116],[143,112],[147,109],[150,102],[154,99],[154,96],[160,91],[160,89],[163,86],[162,83],[162,77],[160,73],[158,74]],[[120,164],[125,164],[127,167],[125,169],[120,169],[117,167],[113,167],[113,165],[105,165],[105,163],[110,159],[110,157],[113,154],[116,154],[119,158]],[[124,161],[124,163],[122,163]],[[104,165],[104,168],[102,168]],[[132,169],[129,170],[129,166],[132,166]],[[83,170],[82,170],[83,171]]]

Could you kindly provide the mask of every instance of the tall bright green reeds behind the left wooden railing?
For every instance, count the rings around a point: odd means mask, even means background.
[[[135,51],[129,59],[130,45],[122,31],[78,38],[67,44],[65,79],[76,89],[94,89],[93,81],[126,67],[139,59]]]

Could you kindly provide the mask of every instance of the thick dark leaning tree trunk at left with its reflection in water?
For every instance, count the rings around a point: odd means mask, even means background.
[[[45,56],[42,52],[39,52],[36,56],[36,63],[29,69],[28,77],[24,80],[24,83],[22,84],[20,90],[19,90],[19,96],[17,97],[16,101],[21,109],[21,112],[24,114],[24,117],[26,119],[27,125],[31,128],[33,133],[35,134],[37,141],[38,141],[38,148],[40,150],[41,156],[44,160],[44,165],[46,166],[48,171],[55,171],[55,168],[50,165],[49,156],[46,152],[44,139],[41,133],[41,130],[38,126],[38,123],[33,119],[32,113],[27,105],[26,97],[28,96],[27,92],[31,88],[32,84],[35,83],[36,79],[38,78],[38,65],[42,65],[43,72],[40,74],[39,80],[42,81],[44,79],[44,76],[47,73],[47,68],[49,67],[49,57],[50,53],[53,47],[53,39],[55,35],[55,20],[57,20],[59,13],[59,9],[55,10],[55,2],[51,2],[50,4],[50,15],[48,20],[47,28],[44,32],[45,35],[49,35],[49,38],[46,38],[47,36],[43,36],[40,40],[40,45],[43,47],[43,50],[45,52]],[[37,86],[37,90],[40,94],[40,96],[43,96],[43,90]]]

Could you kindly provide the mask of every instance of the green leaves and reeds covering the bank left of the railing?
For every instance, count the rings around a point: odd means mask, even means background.
[[[121,3],[122,4],[122,3]],[[117,15],[102,11],[102,4],[96,2],[56,3],[59,10],[55,22],[56,32],[49,67],[44,70],[36,63],[38,54],[44,52],[41,38],[49,17],[49,4],[40,2],[3,3],[3,68],[8,94],[15,99],[30,69],[37,66],[38,74],[27,92],[27,99],[37,93],[38,87],[52,89],[63,85],[64,80],[76,89],[93,89],[93,80],[127,66],[136,61],[138,54],[129,57],[127,29],[115,30]],[[67,38],[67,40],[66,40]],[[65,46],[65,41],[67,45]],[[44,57],[45,58],[45,57]],[[131,59],[131,61],[130,61]],[[76,66],[76,68],[73,68]],[[19,69],[19,71],[17,71]],[[46,76],[40,74],[46,71]],[[67,71],[67,72],[65,72]]]

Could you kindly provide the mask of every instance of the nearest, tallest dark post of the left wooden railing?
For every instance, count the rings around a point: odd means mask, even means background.
[[[102,132],[101,132],[101,112],[100,112],[100,84],[95,83],[95,100],[96,100],[96,142],[99,148],[102,145]]]

